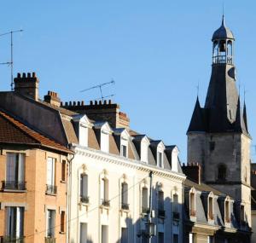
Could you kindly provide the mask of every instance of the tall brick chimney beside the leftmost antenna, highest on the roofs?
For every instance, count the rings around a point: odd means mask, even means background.
[[[18,73],[17,78],[15,78],[15,92],[38,101],[38,84],[39,79],[36,72],[32,72],[32,74],[23,72],[22,77]]]

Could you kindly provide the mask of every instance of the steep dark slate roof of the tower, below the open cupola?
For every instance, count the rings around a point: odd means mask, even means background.
[[[205,107],[198,98],[189,124],[188,132],[240,132],[249,136],[246,110],[241,114],[240,97],[236,79],[230,65],[212,65],[212,76],[207,90]]]

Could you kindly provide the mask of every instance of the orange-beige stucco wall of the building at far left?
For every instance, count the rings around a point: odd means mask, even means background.
[[[0,181],[5,180],[6,171],[6,152],[26,153],[25,161],[25,193],[7,193],[0,192],[0,202],[3,205],[26,205],[24,213],[24,235],[26,243],[43,243],[46,235],[46,214],[47,207],[56,210],[55,224],[58,227],[55,229],[56,243],[66,241],[66,234],[59,234],[61,215],[60,210],[66,211],[67,207],[67,184],[61,183],[61,160],[66,157],[57,154],[49,153],[44,150],[3,150],[3,155],[0,155]],[[49,196],[45,194],[46,189],[46,172],[47,158],[53,157],[56,159],[55,165],[55,184],[57,186],[57,194]],[[5,234],[5,211],[4,207],[0,210],[0,236]],[[30,235],[28,237],[28,235]]]

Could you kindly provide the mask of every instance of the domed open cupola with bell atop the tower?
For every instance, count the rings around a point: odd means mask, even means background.
[[[225,25],[224,15],[221,26],[212,36],[212,64],[234,64],[234,35]]]

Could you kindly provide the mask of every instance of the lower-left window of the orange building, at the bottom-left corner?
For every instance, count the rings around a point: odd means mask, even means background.
[[[7,206],[6,214],[6,236],[10,239],[23,237],[24,230],[24,207]]]

